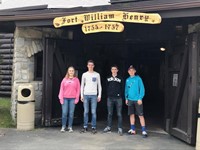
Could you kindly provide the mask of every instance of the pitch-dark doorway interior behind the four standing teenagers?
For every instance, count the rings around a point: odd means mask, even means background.
[[[164,121],[164,95],[163,87],[160,86],[162,76],[160,74],[161,62],[164,60],[164,52],[160,52],[160,44],[106,44],[106,43],[81,43],[70,40],[48,39],[50,44],[46,53],[46,61],[53,58],[52,64],[48,64],[46,69],[51,70],[49,78],[51,82],[48,87],[52,89],[51,116],[50,122],[46,125],[59,125],[61,118],[61,107],[58,101],[59,86],[62,78],[65,76],[68,66],[73,65],[81,80],[83,72],[87,71],[86,62],[93,59],[95,62],[95,70],[101,75],[101,83],[103,87],[102,101],[98,104],[98,119],[106,121],[107,103],[106,103],[106,77],[110,75],[110,66],[116,64],[119,66],[119,75],[125,80],[128,77],[127,68],[134,65],[137,68],[137,74],[143,79],[146,95],[144,98],[145,116],[147,124],[153,125],[151,129],[159,127],[163,130]],[[144,46],[145,45],[145,46]],[[49,52],[51,51],[51,52]],[[160,80],[159,80],[160,79]],[[51,90],[51,89],[49,89]],[[124,98],[124,97],[123,97]],[[82,102],[79,102],[75,111],[75,122],[82,123],[83,109]],[[128,125],[127,107],[124,103],[123,109],[124,123]],[[116,116],[114,116],[116,119]],[[128,127],[127,127],[128,128]]]

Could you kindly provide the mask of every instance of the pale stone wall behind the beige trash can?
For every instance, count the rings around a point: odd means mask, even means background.
[[[17,117],[18,86],[30,83],[35,88],[35,123],[41,125],[42,81],[34,81],[34,54],[42,51],[45,37],[62,37],[62,30],[51,28],[17,27],[14,33],[12,108],[13,120]]]

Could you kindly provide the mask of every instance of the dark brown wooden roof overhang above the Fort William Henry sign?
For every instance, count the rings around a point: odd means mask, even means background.
[[[64,9],[48,9],[47,5],[18,9],[0,10],[0,22],[14,21],[19,26],[52,25],[55,17],[81,14],[96,11],[132,11],[157,12],[162,18],[196,17],[200,16],[199,0],[169,0],[117,3],[95,7],[77,7]]]

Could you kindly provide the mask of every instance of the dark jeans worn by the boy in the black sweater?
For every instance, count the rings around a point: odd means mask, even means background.
[[[108,126],[112,126],[112,116],[114,105],[117,111],[118,117],[118,128],[122,128],[122,98],[108,98],[107,108],[108,108]]]

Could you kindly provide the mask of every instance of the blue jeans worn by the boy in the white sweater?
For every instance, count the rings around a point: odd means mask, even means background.
[[[96,108],[97,108],[97,96],[96,95],[84,95],[83,107],[84,107],[84,123],[83,127],[88,127],[88,112],[89,112],[89,103],[91,104],[91,113],[92,113],[92,128],[96,128]]]

